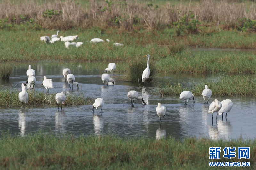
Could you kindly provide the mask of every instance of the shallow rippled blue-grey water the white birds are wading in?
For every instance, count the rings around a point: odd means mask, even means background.
[[[121,65],[121,64],[120,64]],[[201,96],[195,97],[188,105],[179,100],[179,96],[160,97],[152,95],[151,91],[156,84],[141,86],[137,83],[125,82],[120,79],[123,75],[116,74],[114,86],[103,86],[101,81],[102,69],[106,66],[100,63],[72,63],[68,65],[74,73],[76,81],[82,88],[79,91],[69,90],[62,76],[63,63],[36,63],[32,68],[36,70],[36,90],[45,89],[41,85],[43,76],[52,78],[54,89],[51,93],[66,91],[76,94],[85,92],[90,97],[101,97],[104,100],[102,115],[96,110],[91,113],[92,105],[66,107],[59,110],[57,107],[35,107],[0,109],[0,132],[10,130],[14,134],[24,136],[38,131],[55,133],[73,133],[76,135],[103,135],[117,134],[120,136],[143,136],[161,138],[173,136],[177,139],[184,137],[209,137],[212,139],[255,138],[256,121],[255,98],[230,97],[234,106],[223,121],[216,113],[212,122],[212,114],[207,114],[209,106],[204,104]],[[27,65],[20,65],[14,71],[9,81],[0,82],[1,88],[21,89],[21,83],[27,79]],[[118,68],[118,64],[117,64]],[[104,70],[104,69],[103,69]],[[220,76],[196,75],[163,75],[160,82],[198,82],[210,79],[218,80]],[[71,87],[72,88],[72,87]],[[140,100],[135,100],[131,107],[127,93],[136,90],[142,95],[147,105],[143,106]],[[203,90],[203,89],[202,89]],[[226,97],[218,97],[224,100]],[[213,99],[210,99],[209,103]],[[161,102],[167,108],[167,114],[160,123],[156,115],[157,103]]]

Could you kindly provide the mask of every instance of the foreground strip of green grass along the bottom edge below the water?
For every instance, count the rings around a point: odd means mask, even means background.
[[[209,159],[209,147],[236,147],[236,157]],[[238,159],[237,147],[250,149],[250,159]],[[255,169],[255,140],[174,138],[155,140],[114,136],[74,137],[38,133],[0,138],[1,169],[212,169],[209,161],[250,161]],[[222,169],[222,168],[220,168]],[[236,167],[223,169],[240,169]]]

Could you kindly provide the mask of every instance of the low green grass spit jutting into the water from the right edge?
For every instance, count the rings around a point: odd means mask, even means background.
[[[219,81],[206,81],[196,84],[177,83],[170,81],[161,87],[157,87],[155,94],[158,95],[180,95],[182,91],[191,91],[194,95],[200,96],[204,85],[212,90],[212,96],[256,96],[256,79],[248,76],[224,76]]]

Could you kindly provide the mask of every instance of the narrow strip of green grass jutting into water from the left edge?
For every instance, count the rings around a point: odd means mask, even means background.
[[[18,95],[20,91],[17,90],[0,90],[0,107],[24,107],[21,104]],[[33,90],[27,90],[28,92],[28,104],[26,107],[35,106],[49,106],[56,105],[55,101],[56,94],[47,94],[45,92],[38,92]],[[79,93],[78,95],[67,95],[67,100],[64,106],[76,106],[76,105],[86,105],[93,104],[94,100],[92,98],[86,97],[84,93]]]

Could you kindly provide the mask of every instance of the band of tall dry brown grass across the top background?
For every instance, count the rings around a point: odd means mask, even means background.
[[[2,1],[0,18],[8,18],[8,22],[20,24],[33,18],[43,28],[70,29],[73,27],[109,26],[132,30],[135,28],[161,29],[180,20],[185,14],[194,14],[201,23],[224,24],[224,29],[235,28],[241,18],[256,20],[256,4],[253,2],[232,3],[229,1],[204,0],[199,3],[172,5],[166,3],[159,8],[148,7],[137,1],[113,0],[109,5],[105,1],[91,0],[90,6],[81,5],[76,1],[46,1],[40,5],[37,1],[11,3]],[[60,16],[44,18],[47,9],[62,11]],[[25,19],[21,19],[20,16]],[[16,18],[16,19],[13,19]]]

